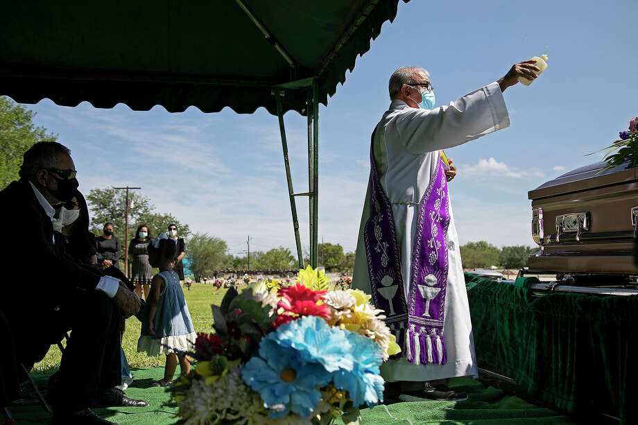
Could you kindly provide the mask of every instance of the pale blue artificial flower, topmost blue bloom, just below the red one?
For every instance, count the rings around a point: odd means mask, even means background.
[[[346,338],[347,333],[350,332],[329,326],[322,318],[307,316],[282,324],[275,338],[282,347],[297,350],[304,361],[320,363],[328,372],[334,372],[352,370],[354,350]]]

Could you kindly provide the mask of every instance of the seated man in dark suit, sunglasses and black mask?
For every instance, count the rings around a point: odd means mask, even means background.
[[[5,240],[0,255],[14,273],[30,278],[28,285],[3,285],[0,311],[12,330],[16,357],[25,365],[40,361],[49,345],[72,329],[60,364],[53,423],[112,424],[89,406],[146,405],[113,389],[120,383],[120,321],[137,313],[140,301],[119,279],[55,249],[54,206],[70,200],[78,187],[69,153],[53,141],[35,144],[24,154],[20,180],[0,192]]]

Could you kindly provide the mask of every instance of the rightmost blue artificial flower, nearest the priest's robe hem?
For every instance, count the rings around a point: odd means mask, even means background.
[[[354,367],[352,371],[340,369],[333,372],[334,386],[347,391],[354,406],[364,403],[374,406],[383,401],[383,378],[379,375],[379,366],[383,362],[381,347],[370,338],[354,332],[348,332],[347,339],[356,354]]]

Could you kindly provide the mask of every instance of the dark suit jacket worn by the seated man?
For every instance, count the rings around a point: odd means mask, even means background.
[[[46,327],[46,313],[64,300],[68,291],[94,290],[101,274],[58,254],[51,219],[28,181],[11,182],[0,192],[0,205],[0,258],[8,266],[4,268],[0,309],[10,322],[21,315],[25,324]]]

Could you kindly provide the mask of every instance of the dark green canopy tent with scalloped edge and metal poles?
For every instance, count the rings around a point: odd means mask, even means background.
[[[202,112],[258,107],[279,118],[295,241],[295,198],[309,198],[317,266],[318,104],[345,82],[399,0],[6,0],[0,13],[0,95],[19,103],[125,103]],[[404,0],[408,1],[408,0]],[[309,189],[295,193],[283,114],[308,120]]]

